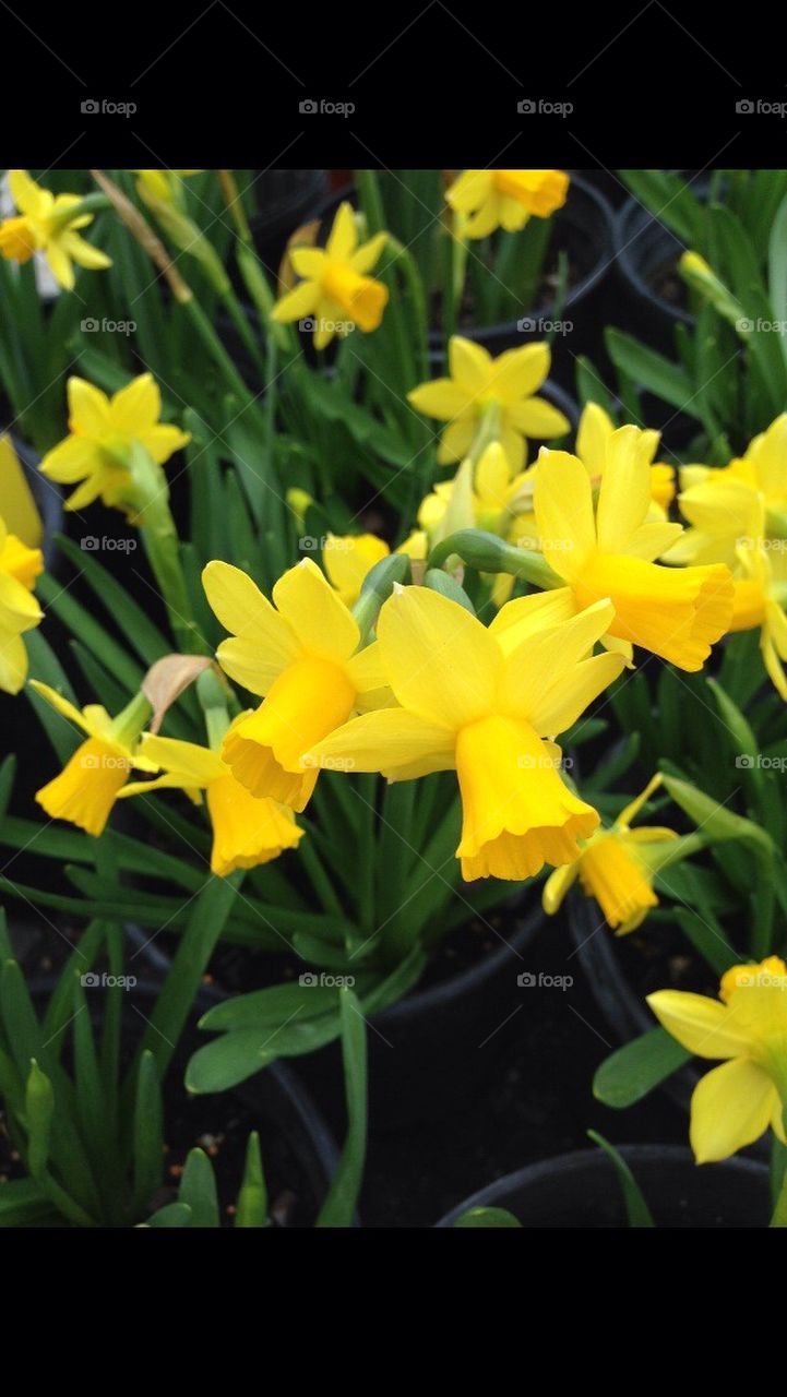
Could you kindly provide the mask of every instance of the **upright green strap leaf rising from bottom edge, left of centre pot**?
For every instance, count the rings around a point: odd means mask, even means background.
[[[366,1021],[356,995],[341,992],[341,1056],[348,1132],[317,1227],[352,1227],[366,1158]]]

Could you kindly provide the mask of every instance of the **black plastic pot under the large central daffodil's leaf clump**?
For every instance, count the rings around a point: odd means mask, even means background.
[[[512,909],[496,950],[369,1020],[370,1133],[411,1129],[481,1095],[519,1031],[517,974],[528,968],[524,953],[542,923],[538,901]],[[338,1044],[296,1067],[333,1120],[344,1092]]]

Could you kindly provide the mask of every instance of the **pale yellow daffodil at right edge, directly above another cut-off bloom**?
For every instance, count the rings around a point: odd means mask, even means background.
[[[727,563],[735,567],[739,541],[758,534],[760,504],[765,510],[765,536],[784,535],[787,412],[776,418],[730,465],[685,465],[678,504],[691,528],[665,555],[670,563]]]

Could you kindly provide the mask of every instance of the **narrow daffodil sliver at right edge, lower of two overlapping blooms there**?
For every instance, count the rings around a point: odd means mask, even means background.
[[[762,503],[755,513],[755,528],[765,527]],[[760,627],[759,648],[763,665],[777,693],[787,701],[787,539],[739,539],[735,598],[730,630]]]

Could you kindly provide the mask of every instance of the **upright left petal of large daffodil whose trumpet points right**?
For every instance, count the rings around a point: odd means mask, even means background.
[[[534,488],[541,548],[559,577],[573,578],[595,549],[590,479],[568,451],[541,448]],[[609,595],[600,592],[594,599]]]

